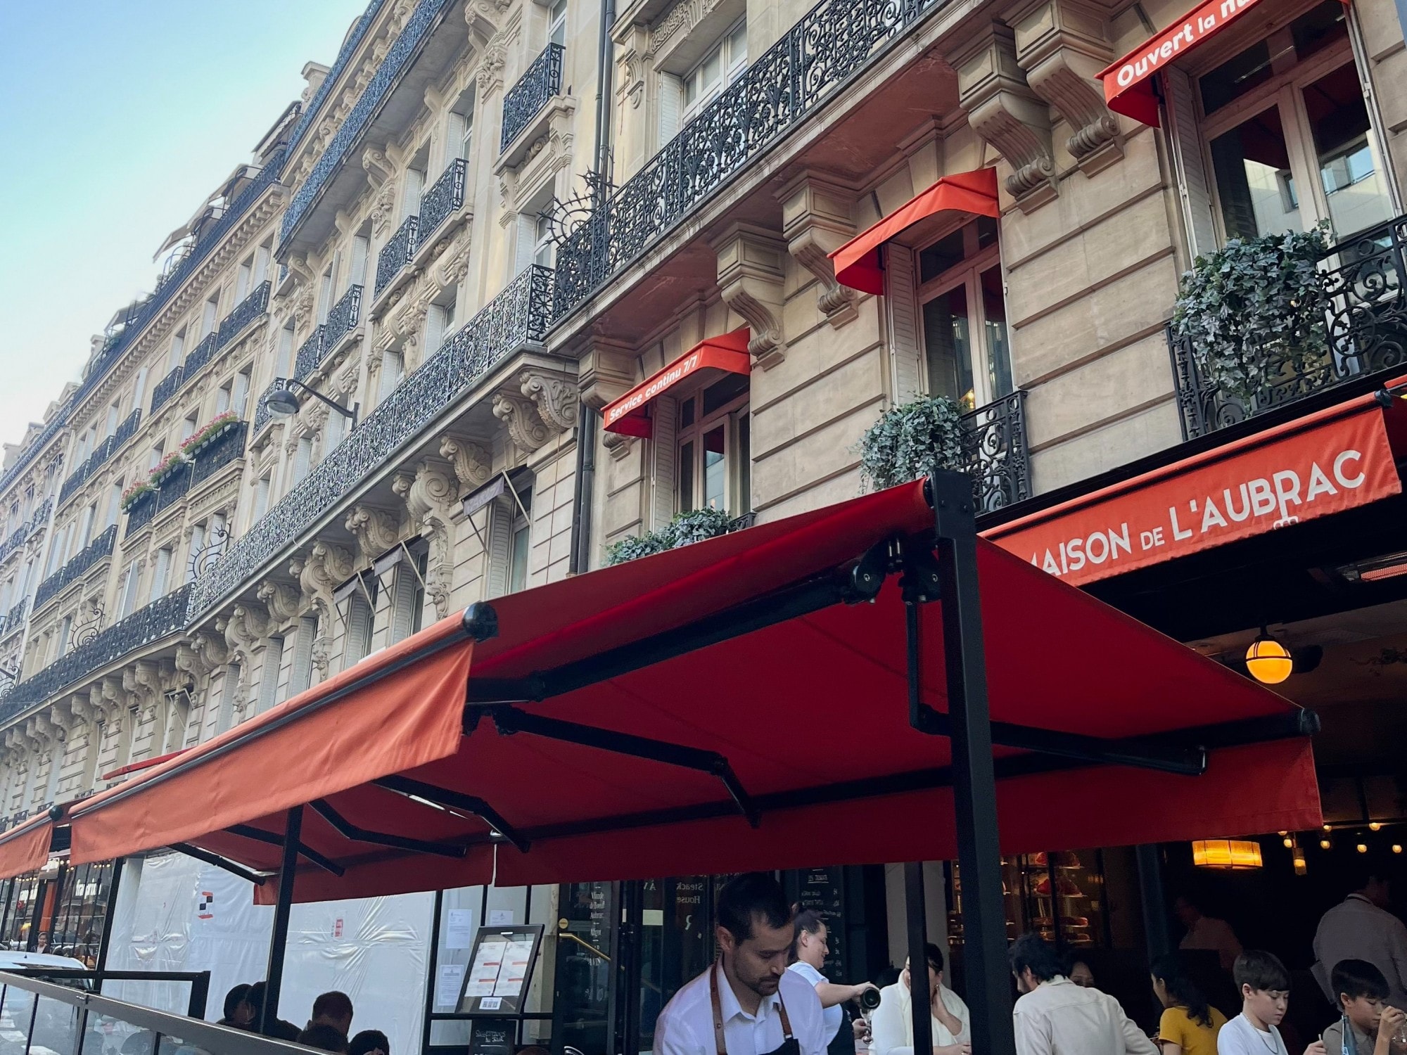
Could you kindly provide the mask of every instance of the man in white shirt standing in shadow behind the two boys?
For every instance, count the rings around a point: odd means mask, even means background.
[[[1387,979],[1387,1003],[1407,1010],[1407,926],[1387,912],[1387,879],[1368,868],[1346,899],[1320,920],[1314,934],[1314,979],[1324,997],[1338,1007],[1330,973],[1345,959],[1366,959]]]

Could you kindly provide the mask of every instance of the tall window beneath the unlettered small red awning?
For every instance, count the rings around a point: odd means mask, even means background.
[[[919,250],[924,390],[975,409],[1010,395],[996,221],[981,217]]]

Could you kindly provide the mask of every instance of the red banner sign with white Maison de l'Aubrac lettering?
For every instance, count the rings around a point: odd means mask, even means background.
[[[1365,397],[982,535],[1083,585],[1401,490],[1383,409]]]

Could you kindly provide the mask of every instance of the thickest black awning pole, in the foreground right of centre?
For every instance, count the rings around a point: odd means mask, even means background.
[[[943,654],[953,720],[953,806],[962,875],[962,955],[967,999],[972,1007],[972,1051],[1016,1055],[972,480],[962,473],[936,471],[929,485],[943,592]]]

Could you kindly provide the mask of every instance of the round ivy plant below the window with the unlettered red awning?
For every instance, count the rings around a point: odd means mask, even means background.
[[[891,407],[860,437],[860,474],[879,491],[927,475],[967,468],[962,411],[944,395],[920,395]]]

